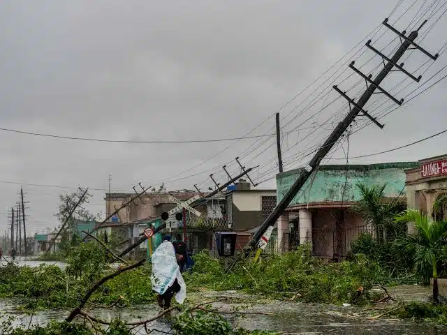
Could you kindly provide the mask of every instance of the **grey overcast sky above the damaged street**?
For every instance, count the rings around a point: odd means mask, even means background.
[[[3,1],[0,127],[110,140],[209,140],[242,137],[264,121],[249,136],[270,134],[274,112],[344,57],[280,111],[286,170],[298,168],[348,111],[343,98],[331,103],[339,96],[330,89],[332,84],[347,90],[360,81],[348,93],[356,98],[365,89],[365,82],[347,67],[349,62],[356,60],[356,66],[363,65],[362,70],[373,75],[381,69],[381,59],[364,46],[365,36],[376,32],[372,45],[388,55],[399,45],[396,35],[380,25],[396,3]],[[390,22],[402,31],[409,24],[420,24],[422,16],[430,18],[421,29],[427,31],[426,36],[420,34],[418,39],[423,37],[420,44],[435,53],[446,43],[446,20],[441,17],[445,9],[445,1],[404,0]],[[379,31],[374,30],[377,27]],[[420,84],[447,64],[444,55],[436,62],[418,50],[407,52],[404,59],[408,55],[405,68],[423,74]],[[420,85],[402,82],[405,78],[395,72],[383,87],[403,98]],[[365,118],[358,119],[349,136],[349,156],[392,149],[443,131],[445,91],[446,84],[441,82],[386,115],[381,119],[386,124],[383,130],[372,125],[362,128]],[[375,116],[386,114],[395,107],[387,99],[377,94],[370,102],[375,105],[367,109]],[[446,138],[441,135],[389,154],[352,158],[349,163],[417,161],[446,154]],[[341,144],[343,149],[331,152],[332,158],[344,157],[348,140]],[[193,184],[206,190],[212,185],[207,177],[211,172],[220,182],[226,181],[223,164],[232,174],[240,171],[235,156],[247,167],[261,165],[251,174],[254,179],[273,177],[275,149],[273,136],[126,144],[0,131],[0,215],[5,218],[1,234],[20,183],[63,186],[23,186],[29,201],[28,229],[35,232],[57,225],[53,214],[58,195],[73,191],[69,187],[95,189],[89,209],[99,212],[105,210],[109,174],[113,190],[161,181],[169,181],[168,190],[192,189]],[[258,187],[272,188],[274,179]]]

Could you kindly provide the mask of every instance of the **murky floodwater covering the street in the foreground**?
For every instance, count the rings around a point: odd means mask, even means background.
[[[271,313],[272,315],[241,315],[228,314],[226,318],[238,327],[247,329],[268,329],[284,334],[447,334],[447,328],[432,325],[417,325],[409,320],[367,320],[366,313],[358,307],[342,307],[316,304],[300,304],[284,301],[259,300],[258,297],[241,295],[234,291],[228,292],[192,292],[191,301],[212,301],[216,297],[230,297],[244,300],[245,306],[241,311]],[[230,312],[235,306],[241,304],[212,304],[219,311]],[[389,307],[385,307],[388,309]],[[15,315],[15,325],[28,325],[31,315],[24,315],[14,310],[13,304],[8,301],[0,301],[0,309]],[[88,311],[96,318],[110,320],[122,318],[128,321],[138,321],[150,318],[159,313],[160,308],[156,305],[135,306],[126,308],[102,309],[94,308]],[[33,315],[32,325],[43,325],[50,320],[63,320],[68,311],[42,311]],[[170,330],[170,321],[162,318],[152,323],[151,327],[161,332],[152,334],[163,334]],[[137,334],[146,334],[145,329],[135,329]]]

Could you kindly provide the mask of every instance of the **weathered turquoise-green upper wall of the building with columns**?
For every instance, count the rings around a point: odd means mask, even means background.
[[[369,186],[387,183],[385,195],[396,197],[405,186],[404,170],[416,168],[417,162],[383,163],[371,165],[321,165],[316,176],[307,179],[302,190],[295,195],[290,206],[307,202],[358,201],[357,183]],[[281,201],[302,169],[277,174],[277,199]],[[347,181],[346,181],[347,176]],[[344,190],[344,185],[346,188]],[[311,186],[312,187],[309,187]],[[405,190],[402,195],[405,195]]]

